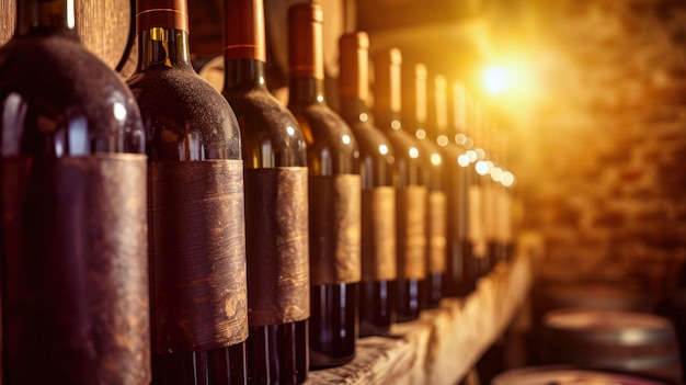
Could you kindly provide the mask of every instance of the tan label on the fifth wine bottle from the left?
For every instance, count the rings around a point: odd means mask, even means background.
[[[396,268],[396,190],[362,192],[362,281],[391,281]]]

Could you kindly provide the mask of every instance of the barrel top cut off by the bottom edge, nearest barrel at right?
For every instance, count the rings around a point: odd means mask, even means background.
[[[667,383],[632,375],[567,366],[529,366],[503,372],[491,385],[665,385]]]

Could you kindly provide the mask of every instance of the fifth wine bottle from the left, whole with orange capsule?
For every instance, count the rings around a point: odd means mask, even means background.
[[[388,138],[371,124],[369,37],[364,32],[339,39],[341,116],[359,147],[362,179],[362,281],[359,337],[384,336],[395,321],[396,191],[393,152]]]

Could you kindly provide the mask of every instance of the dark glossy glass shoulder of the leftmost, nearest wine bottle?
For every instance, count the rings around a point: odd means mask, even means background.
[[[13,133],[5,137],[18,139],[3,143],[3,156],[45,154],[45,146],[55,156],[144,150],[130,90],[67,34],[15,37],[0,48],[0,114],[2,132]]]

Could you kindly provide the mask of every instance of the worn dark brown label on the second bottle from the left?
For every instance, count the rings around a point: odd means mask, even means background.
[[[213,350],[248,337],[241,160],[150,166],[157,353]]]

